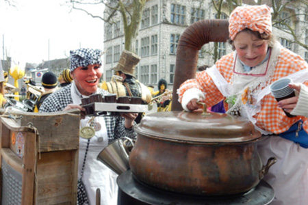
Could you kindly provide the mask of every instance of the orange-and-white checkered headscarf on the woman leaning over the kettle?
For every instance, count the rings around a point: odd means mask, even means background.
[[[268,5],[238,6],[230,14],[229,36],[234,40],[236,34],[244,29],[259,31],[259,33],[272,33],[272,16]]]

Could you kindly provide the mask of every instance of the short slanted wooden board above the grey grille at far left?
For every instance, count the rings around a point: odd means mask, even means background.
[[[2,159],[20,174],[23,173],[23,160],[10,148],[1,148]]]

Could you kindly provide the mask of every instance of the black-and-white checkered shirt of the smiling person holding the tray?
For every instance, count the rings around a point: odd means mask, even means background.
[[[70,87],[72,84],[62,87],[60,90],[53,92],[48,98],[44,100],[40,106],[40,113],[51,113],[57,111],[63,111],[68,104],[73,103],[73,98],[70,94]],[[107,91],[99,89],[101,94],[108,94]],[[107,128],[108,143],[120,138],[130,137],[136,138],[136,133],[133,129],[127,129],[124,126],[124,118],[120,116],[103,116]]]

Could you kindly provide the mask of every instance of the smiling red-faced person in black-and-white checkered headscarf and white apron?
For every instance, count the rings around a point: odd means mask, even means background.
[[[62,87],[62,89],[54,92],[44,100],[40,107],[40,112],[55,112],[74,108],[81,110],[80,128],[90,126],[94,128],[95,135],[90,139],[79,137],[78,178],[81,178],[81,170],[86,155],[81,180],[86,187],[89,204],[96,204],[95,195],[99,188],[101,191],[101,205],[116,205],[118,194],[117,175],[98,161],[97,156],[103,148],[115,139],[123,136],[136,137],[133,125],[137,114],[127,113],[117,117],[99,115],[94,120],[84,115],[86,110],[80,106],[81,98],[88,97],[91,94],[109,94],[107,91],[98,88],[99,79],[102,76],[101,54],[102,51],[98,49],[70,51],[70,76],[73,81],[70,85]]]

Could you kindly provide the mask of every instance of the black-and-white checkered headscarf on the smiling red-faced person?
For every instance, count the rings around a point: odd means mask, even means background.
[[[80,66],[102,64],[101,55],[103,51],[99,49],[77,49],[70,51],[70,72]]]

